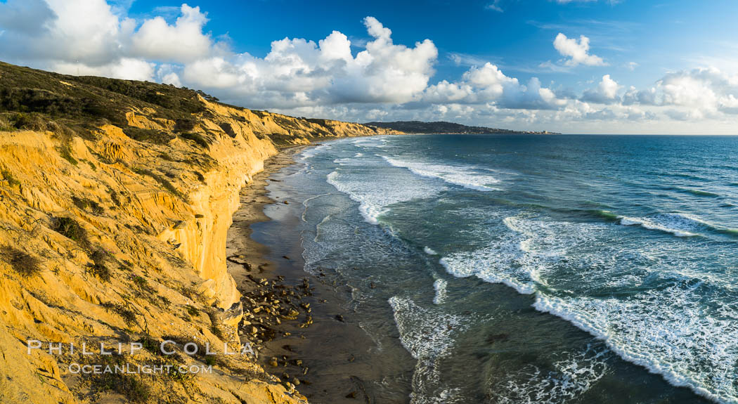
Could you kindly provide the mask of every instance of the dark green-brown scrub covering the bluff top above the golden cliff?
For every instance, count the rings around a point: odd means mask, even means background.
[[[191,130],[193,114],[205,111],[198,94],[165,84],[69,76],[0,62],[0,130],[46,130],[44,123],[53,119],[83,135],[110,123],[133,139],[165,143],[173,135],[128,126],[125,113],[152,108],[155,117],[178,122],[178,131]]]

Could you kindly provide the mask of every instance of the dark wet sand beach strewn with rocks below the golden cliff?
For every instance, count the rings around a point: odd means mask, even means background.
[[[351,289],[303,271],[296,229],[304,206],[290,200],[288,190],[278,187],[280,178],[297,170],[290,166],[294,155],[303,149],[282,150],[241,190],[241,208],[228,233],[227,257],[229,271],[246,296],[242,299],[244,312],[252,311],[254,301],[261,302],[263,294],[269,302],[279,301],[273,306],[277,311],[299,313],[297,318],[277,316],[279,321],[263,316],[263,312],[245,318],[252,324],[239,327],[242,342],[256,343],[261,348],[258,361],[263,368],[296,384],[313,404],[408,403],[413,358],[405,352],[404,357],[378,363],[375,342],[359,327],[349,307]],[[269,184],[276,187],[266,189]],[[273,221],[266,223],[269,220]],[[257,323],[258,318],[264,322]],[[259,332],[251,334],[254,325]],[[378,397],[372,385],[382,384],[385,378],[407,386],[399,389],[400,394]]]

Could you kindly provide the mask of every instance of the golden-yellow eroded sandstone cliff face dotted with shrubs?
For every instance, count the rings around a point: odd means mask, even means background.
[[[248,355],[213,361],[179,346],[176,357],[162,357],[156,344],[241,348],[232,327],[240,296],[226,269],[227,229],[239,189],[278,146],[384,132],[198,101],[203,107],[186,122],[134,105],[123,111],[124,123],[92,125],[85,136],[43,122],[35,130],[0,130],[0,402],[303,400]],[[29,350],[28,340],[44,345]],[[67,345],[59,355],[49,353],[48,342]],[[145,349],[123,357],[69,352],[68,344],[83,343],[92,352],[100,343]],[[70,363],[120,360],[212,364],[214,371],[68,371]]]

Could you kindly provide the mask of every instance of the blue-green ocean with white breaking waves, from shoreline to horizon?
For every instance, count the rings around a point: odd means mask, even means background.
[[[284,181],[306,271],[415,360],[376,397],[738,403],[737,137],[341,139]]]

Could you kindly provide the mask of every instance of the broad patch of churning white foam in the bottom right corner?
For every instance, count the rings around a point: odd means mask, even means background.
[[[673,386],[689,387],[720,403],[738,403],[732,383],[738,361],[736,323],[700,314],[699,300],[690,292],[649,291],[626,301],[537,293],[534,307],[600,338],[621,358],[662,375]]]

